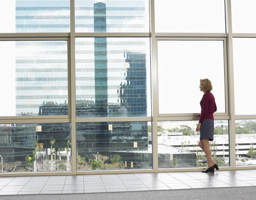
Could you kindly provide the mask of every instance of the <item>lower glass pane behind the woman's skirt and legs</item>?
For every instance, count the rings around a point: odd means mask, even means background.
[[[198,121],[157,122],[158,168],[206,167],[207,158],[198,146]],[[209,142],[218,166],[229,166],[228,120],[214,121],[214,139]]]

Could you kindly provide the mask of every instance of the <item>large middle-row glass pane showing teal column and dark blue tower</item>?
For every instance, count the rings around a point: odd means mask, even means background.
[[[76,38],[76,116],[151,116],[149,38]]]

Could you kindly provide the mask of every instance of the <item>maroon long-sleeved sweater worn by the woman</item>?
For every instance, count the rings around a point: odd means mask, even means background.
[[[204,119],[212,119],[213,113],[217,111],[217,106],[215,104],[215,98],[212,93],[204,93],[202,100],[200,101],[201,105],[201,115],[199,123],[202,123]]]

